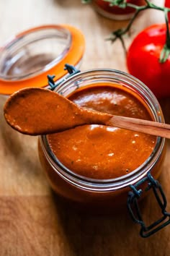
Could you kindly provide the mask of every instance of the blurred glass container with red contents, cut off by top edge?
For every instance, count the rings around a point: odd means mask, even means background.
[[[128,0],[130,4],[135,4],[138,6],[143,6],[146,4],[144,0]],[[128,20],[133,17],[135,9],[133,7],[113,7],[108,1],[104,0],[94,0],[92,1],[94,9],[102,16],[107,17],[112,20]]]

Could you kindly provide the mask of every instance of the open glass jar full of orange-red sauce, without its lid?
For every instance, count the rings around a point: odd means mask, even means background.
[[[58,85],[84,108],[164,122],[161,107],[142,82],[124,72],[94,69]],[[163,170],[165,140],[116,127],[84,125],[39,140],[42,167],[50,186],[78,208],[102,213],[126,205],[128,193]],[[141,187],[147,187],[147,181]]]

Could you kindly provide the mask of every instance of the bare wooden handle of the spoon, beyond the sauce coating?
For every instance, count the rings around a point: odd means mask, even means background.
[[[136,132],[144,132],[149,135],[156,135],[170,139],[170,124],[134,119],[125,116],[112,116],[106,124],[109,126],[130,129]]]

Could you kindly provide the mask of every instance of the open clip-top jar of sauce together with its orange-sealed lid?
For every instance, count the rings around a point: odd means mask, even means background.
[[[0,48],[0,94],[55,88],[85,108],[164,122],[155,96],[135,77],[112,69],[79,72],[71,65],[63,69],[66,63],[79,67],[83,55],[84,35],[71,25],[24,31]],[[62,199],[76,208],[103,213],[119,210],[128,198],[132,212],[135,197],[157,186],[154,179],[164,168],[165,140],[91,124],[43,135],[38,150],[50,186]]]

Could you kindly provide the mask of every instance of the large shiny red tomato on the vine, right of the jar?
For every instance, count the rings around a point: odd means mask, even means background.
[[[130,74],[144,82],[157,98],[170,96],[170,56],[159,62],[165,43],[166,25],[151,25],[136,36],[127,55]]]

